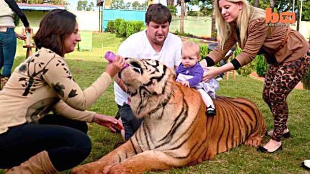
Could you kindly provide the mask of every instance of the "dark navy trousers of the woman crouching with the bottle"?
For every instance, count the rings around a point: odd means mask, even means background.
[[[55,121],[52,118],[59,118],[61,124],[68,123],[75,129],[49,124],[47,119]],[[87,158],[92,145],[85,134],[86,123],[56,115],[49,115],[43,121],[44,124],[23,124],[0,134],[0,168],[18,166],[44,150],[57,171],[70,169]]]

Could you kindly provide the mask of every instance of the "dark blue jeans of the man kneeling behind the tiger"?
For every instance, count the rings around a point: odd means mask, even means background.
[[[119,109],[122,123],[125,128],[125,139],[127,141],[139,129],[143,118],[137,118],[136,116],[134,116],[130,105],[128,104],[124,104],[123,106],[117,105],[117,107]]]

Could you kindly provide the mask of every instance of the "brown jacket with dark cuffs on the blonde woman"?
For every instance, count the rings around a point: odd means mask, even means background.
[[[260,50],[264,53],[273,53],[283,42],[286,34],[286,26],[267,26],[264,18],[254,19],[248,25],[248,39],[245,47],[235,59],[243,66],[252,61]],[[208,54],[208,57],[215,63],[219,62],[236,42],[239,40],[235,26],[223,50],[217,46],[212,53]],[[275,53],[275,58],[278,63],[288,62],[301,58],[307,53],[307,50],[306,39],[298,31],[290,29],[287,43]],[[271,57],[266,57],[267,61],[268,58]]]

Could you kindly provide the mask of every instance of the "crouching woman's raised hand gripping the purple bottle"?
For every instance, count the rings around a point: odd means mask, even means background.
[[[123,70],[125,66],[126,60],[122,56],[116,55],[116,58],[108,63],[106,72],[113,78],[117,73]]]

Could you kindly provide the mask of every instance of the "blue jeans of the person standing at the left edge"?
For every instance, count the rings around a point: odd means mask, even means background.
[[[0,70],[3,67],[2,77],[11,76],[11,70],[16,53],[16,34],[14,28],[0,32]]]

